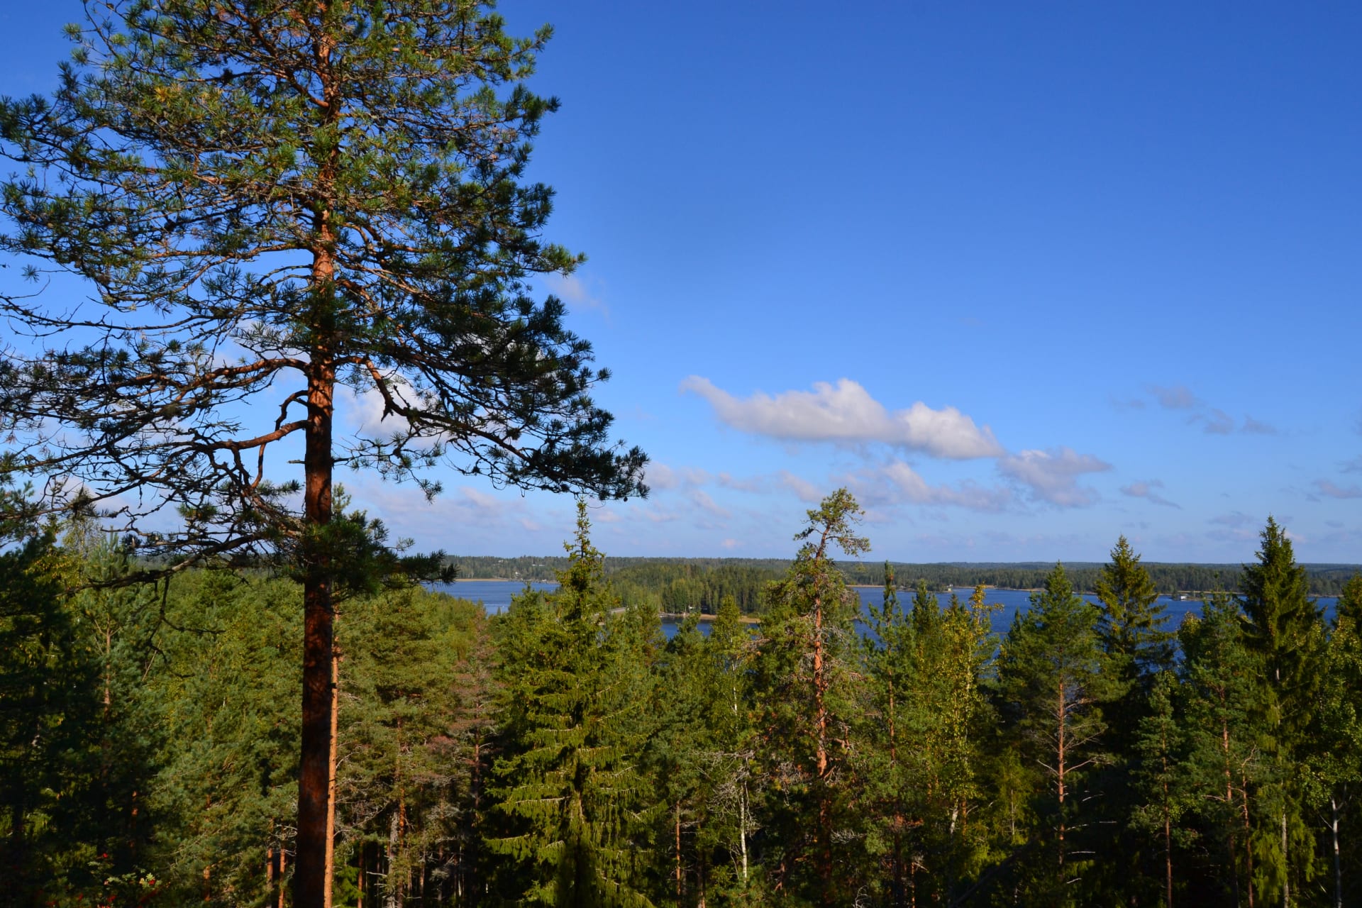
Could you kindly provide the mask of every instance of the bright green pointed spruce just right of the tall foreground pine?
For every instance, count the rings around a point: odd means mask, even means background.
[[[513,862],[512,897],[648,905],[646,834],[658,805],[640,764],[656,615],[612,614],[620,603],[582,502],[568,553],[558,591],[527,591],[497,630],[505,754],[494,794],[508,828],[488,847]]]

